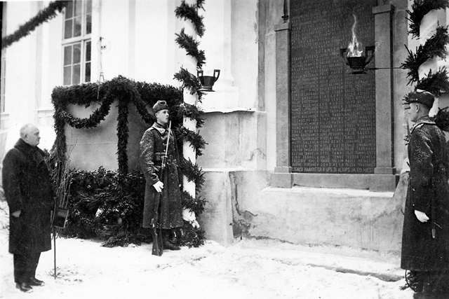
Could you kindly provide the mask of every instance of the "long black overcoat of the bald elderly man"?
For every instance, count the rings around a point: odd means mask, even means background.
[[[4,158],[2,182],[10,212],[10,253],[51,249],[54,193],[44,156],[40,148],[19,139]],[[18,210],[20,216],[13,216]]]

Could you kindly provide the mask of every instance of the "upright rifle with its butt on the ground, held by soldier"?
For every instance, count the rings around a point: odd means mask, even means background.
[[[162,163],[161,163],[161,169],[159,170],[159,181],[163,182],[163,174],[164,169],[166,168],[166,162],[168,158],[168,144],[170,143],[170,135],[171,135],[171,120],[170,124],[168,125],[168,137],[167,137],[167,147],[165,155],[162,157]],[[162,192],[156,195],[156,200],[154,202],[154,215],[152,218],[152,236],[153,236],[153,249],[152,254],[154,256],[162,256],[163,252],[163,242],[162,242],[162,228],[161,228],[161,222],[159,221],[159,210],[161,209],[161,197]]]

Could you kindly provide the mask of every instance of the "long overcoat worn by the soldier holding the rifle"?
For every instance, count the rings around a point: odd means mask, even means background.
[[[159,193],[153,185],[159,181],[159,169],[161,168],[160,155],[166,151],[168,130],[159,123],[154,123],[142,136],[140,141],[140,165],[145,174],[145,204],[143,209],[144,228],[151,227],[154,216],[154,202]],[[168,161],[163,175],[163,191],[161,194],[161,209],[159,220],[161,228],[182,227],[182,202],[181,202],[181,173],[178,169],[179,155],[176,139],[170,134],[168,144]]]

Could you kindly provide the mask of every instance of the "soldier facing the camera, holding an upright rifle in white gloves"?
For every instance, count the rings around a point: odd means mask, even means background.
[[[159,223],[162,228],[163,249],[179,250],[173,244],[174,228],[183,225],[180,183],[182,176],[177,167],[179,155],[176,139],[168,136],[168,106],[166,101],[158,101],[153,106],[156,122],[143,134],[140,141],[140,164],[145,174],[145,204],[143,210],[144,228],[152,227],[156,196],[161,195]],[[164,169],[163,181],[159,180],[162,157],[168,142],[168,158]],[[160,194],[158,194],[160,193]],[[153,240],[154,242],[154,240]]]

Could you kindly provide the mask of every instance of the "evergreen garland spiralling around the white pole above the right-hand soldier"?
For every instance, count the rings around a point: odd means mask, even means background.
[[[438,10],[441,8],[449,8],[448,0],[414,0],[412,5],[412,11],[407,11],[410,21],[410,31],[412,37],[415,39],[420,38],[420,25],[424,15],[431,10]],[[408,57],[401,67],[408,69],[407,77],[409,79],[408,84],[412,85],[416,83],[415,90],[427,90],[436,97],[439,97],[443,92],[449,92],[449,77],[448,71],[445,67],[441,67],[438,70],[429,70],[428,74],[424,74],[424,77],[420,79],[419,69],[424,62],[431,60],[435,57],[445,59],[448,56],[448,51],[445,46],[449,43],[448,27],[442,27],[438,25],[436,32],[424,43],[416,48],[415,53],[408,50]],[[403,100],[407,102],[411,92],[405,95]],[[448,109],[439,109],[434,120],[441,130],[449,132],[449,113]]]

